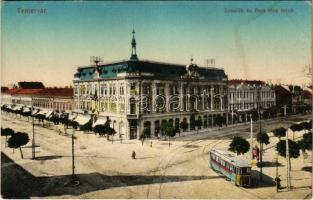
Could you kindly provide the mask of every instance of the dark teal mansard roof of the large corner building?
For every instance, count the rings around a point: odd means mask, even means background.
[[[148,60],[126,60],[107,63],[98,66],[100,79],[115,79],[120,73],[138,73],[140,76],[151,76],[153,79],[179,79],[187,74],[185,65],[162,63]],[[197,72],[205,80],[226,80],[227,75],[223,69],[213,67],[198,67]],[[79,67],[75,80],[93,80],[96,73],[95,66]]]

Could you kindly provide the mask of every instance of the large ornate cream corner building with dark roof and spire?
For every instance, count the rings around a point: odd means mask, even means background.
[[[110,119],[120,137],[135,139],[144,128],[162,135],[162,123],[195,129],[194,121],[212,127],[227,116],[227,76],[223,69],[139,60],[132,39],[129,60],[79,67],[74,75],[75,112]]]

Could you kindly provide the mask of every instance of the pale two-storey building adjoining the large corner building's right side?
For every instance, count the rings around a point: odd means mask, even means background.
[[[229,80],[228,107],[231,119],[239,122],[247,121],[251,111],[269,109],[276,105],[275,91],[263,81],[256,80]]]

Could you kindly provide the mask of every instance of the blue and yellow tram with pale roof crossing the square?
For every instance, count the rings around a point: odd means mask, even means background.
[[[236,186],[251,186],[251,161],[233,152],[225,150],[211,150],[209,152],[211,168],[226,176]]]

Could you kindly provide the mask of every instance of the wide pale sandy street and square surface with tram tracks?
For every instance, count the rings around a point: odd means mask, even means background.
[[[264,130],[289,126],[293,122],[310,119],[310,116],[293,116],[287,119],[265,120]],[[258,123],[257,123],[258,124]],[[255,131],[258,125],[255,124]],[[15,131],[32,133],[26,118],[2,115],[2,126]],[[273,182],[278,139],[271,137],[265,146],[266,166],[264,182],[259,183],[259,168],[253,167],[253,188],[240,188],[218,176],[208,167],[207,154],[211,149],[227,149],[233,135],[249,136],[249,124],[200,131],[199,134],[168,141],[149,140],[143,145],[137,140],[107,141],[92,133],[75,133],[77,179],[80,185],[71,187],[71,136],[59,133],[51,125],[36,125],[36,160],[31,160],[31,141],[24,146],[24,159],[20,152],[2,144],[2,195],[24,198],[311,198],[311,152],[292,159],[292,191],[276,193]],[[71,129],[68,130],[72,132]],[[300,137],[302,133],[297,133]],[[270,134],[271,135],[271,134]],[[150,142],[152,141],[152,147]],[[131,159],[136,151],[137,159]],[[286,161],[279,157],[279,174],[285,185]]]

